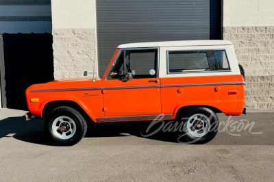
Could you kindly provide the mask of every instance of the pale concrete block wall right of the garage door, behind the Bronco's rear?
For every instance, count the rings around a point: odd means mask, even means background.
[[[224,0],[223,39],[246,75],[247,109],[274,109],[274,1]]]

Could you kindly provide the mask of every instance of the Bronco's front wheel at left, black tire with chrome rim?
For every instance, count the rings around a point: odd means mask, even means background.
[[[53,125],[55,122],[56,126]],[[63,129],[71,130],[64,130],[64,132],[62,132],[60,129],[62,125],[64,126]],[[58,127],[58,129],[54,129],[55,131],[53,131],[53,127]],[[60,146],[72,146],[84,138],[84,135],[86,135],[87,124],[84,117],[77,112],[77,110],[71,107],[62,106],[53,109],[47,115],[44,123],[44,130],[51,142]],[[64,134],[63,137],[62,134]]]

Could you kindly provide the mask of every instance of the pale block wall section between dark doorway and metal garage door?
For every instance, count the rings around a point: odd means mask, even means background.
[[[98,77],[95,0],[53,0],[54,79]]]

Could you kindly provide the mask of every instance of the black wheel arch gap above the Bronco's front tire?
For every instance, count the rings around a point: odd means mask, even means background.
[[[68,106],[68,107],[72,107],[73,109],[76,109],[77,112],[82,114],[86,122],[94,123],[94,118],[92,116],[90,117],[78,103],[76,103],[75,101],[69,101],[69,100],[48,102],[42,109],[42,116],[49,114],[49,112],[51,112],[53,109],[61,106]]]

